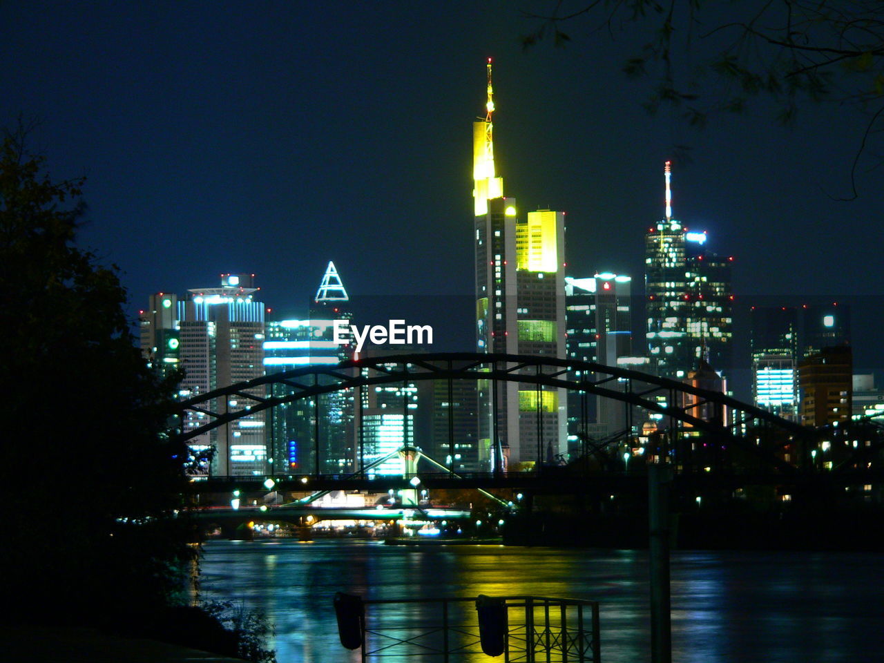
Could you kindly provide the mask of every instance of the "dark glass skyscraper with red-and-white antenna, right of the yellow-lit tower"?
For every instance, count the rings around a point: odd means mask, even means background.
[[[660,377],[684,380],[699,361],[731,368],[731,263],[705,250],[706,233],[672,217],[671,171],[665,168],[666,218],[645,238],[648,352]]]

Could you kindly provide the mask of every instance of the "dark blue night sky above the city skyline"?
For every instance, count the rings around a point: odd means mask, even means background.
[[[832,199],[850,194],[862,118],[805,107],[789,131],[759,103],[698,132],[650,116],[650,81],[621,73],[638,39],[575,24],[567,48],[522,52],[526,5],[0,3],[0,124],[42,118],[51,175],[88,177],[80,243],[119,265],[133,314],[227,271],[293,309],[328,260],[351,294],[468,301],[490,56],[505,193],[567,211],[569,275],[641,283],[663,162],[687,143],[674,216],[735,256],[738,299],[858,298],[857,367],[884,366],[867,322],[882,317],[880,171],[858,201]]]

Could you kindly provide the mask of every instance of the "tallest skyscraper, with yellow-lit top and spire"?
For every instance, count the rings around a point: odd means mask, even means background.
[[[476,242],[476,347],[484,353],[565,357],[565,215],[552,210],[518,218],[494,166],[491,58],[484,119],[473,124]],[[497,439],[514,462],[545,460],[567,448],[563,390],[479,385],[480,459]],[[495,418],[493,413],[497,413]]]

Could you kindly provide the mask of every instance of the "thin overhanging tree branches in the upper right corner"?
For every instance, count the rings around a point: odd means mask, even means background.
[[[753,98],[773,98],[777,119],[796,121],[806,102],[833,101],[865,118],[851,168],[856,172],[884,128],[884,3],[880,0],[558,0],[552,11],[527,12],[536,27],[529,47],[571,41],[571,27],[644,32],[623,64],[654,80],[647,110],[668,104],[691,126],[720,112],[742,112]],[[547,4],[548,6],[548,4]],[[565,30],[568,32],[565,32]],[[879,161],[875,160],[875,165]]]

